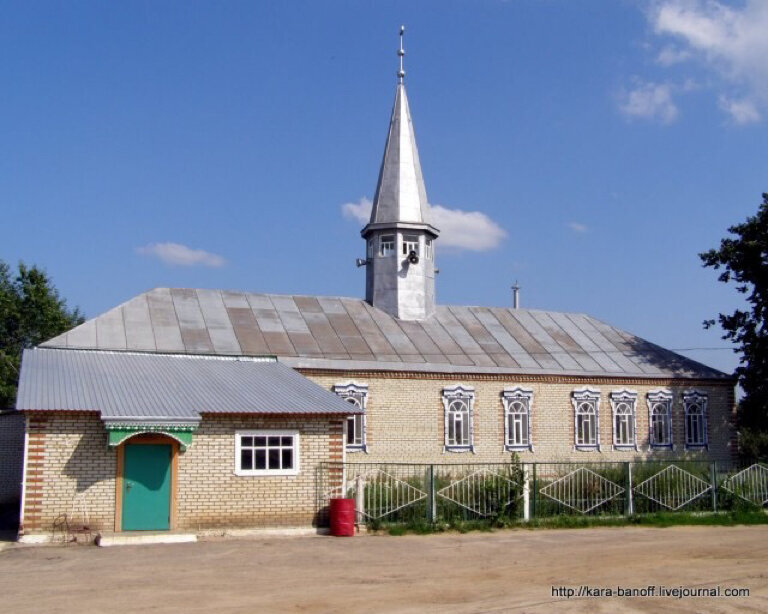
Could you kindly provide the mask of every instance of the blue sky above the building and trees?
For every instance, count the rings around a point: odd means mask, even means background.
[[[739,299],[697,254],[768,191],[764,0],[6,2],[0,259],[87,316],[156,286],[362,296],[401,23],[439,302],[517,279],[726,347],[701,322]]]

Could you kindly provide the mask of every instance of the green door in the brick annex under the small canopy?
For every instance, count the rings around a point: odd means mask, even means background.
[[[125,446],[123,531],[159,531],[171,526],[171,446]]]

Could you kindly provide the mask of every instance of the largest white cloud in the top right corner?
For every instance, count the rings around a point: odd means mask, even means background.
[[[743,124],[759,121],[759,109],[768,107],[768,2],[740,4],[658,0],[649,20],[657,35],[676,41],[662,48],[659,63],[697,60],[718,77],[720,107]]]

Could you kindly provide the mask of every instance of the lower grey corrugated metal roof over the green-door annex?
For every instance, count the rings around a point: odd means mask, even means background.
[[[168,420],[199,419],[203,413],[356,411],[273,358],[43,348],[24,351],[16,409]]]

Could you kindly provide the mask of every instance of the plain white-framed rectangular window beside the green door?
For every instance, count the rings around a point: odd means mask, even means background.
[[[298,431],[238,431],[235,433],[236,475],[297,475]]]

